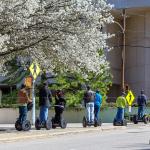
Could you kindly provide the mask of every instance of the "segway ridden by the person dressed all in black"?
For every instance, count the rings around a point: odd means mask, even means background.
[[[64,109],[64,106],[62,105],[54,105],[54,107],[60,107]],[[61,127],[62,129],[65,129],[67,127],[67,122],[64,118],[57,119],[55,117],[52,117],[52,128],[55,129],[56,127]]]

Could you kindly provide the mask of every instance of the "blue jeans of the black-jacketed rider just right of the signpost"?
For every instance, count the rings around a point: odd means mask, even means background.
[[[41,106],[40,107],[40,121],[41,123],[45,123],[48,119],[48,107],[47,106]]]

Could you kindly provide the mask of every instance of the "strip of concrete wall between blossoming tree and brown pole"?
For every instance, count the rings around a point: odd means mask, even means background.
[[[119,23],[120,20],[117,20]],[[115,101],[116,96],[120,94],[120,83],[121,83],[121,50],[122,47],[122,31],[120,27],[116,24],[111,24],[107,26],[107,32],[115,34],[110,40],[108,40],[108,45],[113,47],[113,50],[108,52],[107,59],[110,62],[111,73],[113,75],[113,86],[110,88],[108,93],[108,101]]]

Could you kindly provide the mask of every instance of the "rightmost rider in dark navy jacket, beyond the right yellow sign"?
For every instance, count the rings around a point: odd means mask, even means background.
[[[138,118],[139,119],[141,119],[144,116],[146,103],[147,103],[147,96],[144,94],[144,90],[141,90],[141,94],[137,98]]]

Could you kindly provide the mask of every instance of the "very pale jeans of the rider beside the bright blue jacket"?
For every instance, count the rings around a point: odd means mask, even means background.
[[[86,115],[88,122],[94,122],[94,102],[86,103]]]

